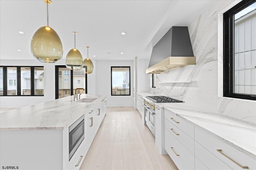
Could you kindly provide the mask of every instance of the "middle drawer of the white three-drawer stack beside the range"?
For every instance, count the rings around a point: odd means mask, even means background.
[[[174,137],[176,137],[188,150],[190,150],[190,152],[194,154],[194,139],[186,135],[186,133],[181,131],[167,119],[164,119],[164,127],[166,127]]]

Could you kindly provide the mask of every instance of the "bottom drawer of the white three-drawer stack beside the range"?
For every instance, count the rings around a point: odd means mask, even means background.
[[[194,154],[166,128],[164,128],[164,149],[180,170],[194,170]]]

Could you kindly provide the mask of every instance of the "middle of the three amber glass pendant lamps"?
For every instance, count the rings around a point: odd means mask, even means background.
[[[72,32],[75,37],[75,48],[71,49],[66,57],[66,67],[70,70],[81,70],[83,67],[83,57],[78,49],[76,49],[76,32]]]

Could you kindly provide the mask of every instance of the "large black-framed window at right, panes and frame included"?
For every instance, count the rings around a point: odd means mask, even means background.
[[[223,96],[256,100],[256,0],[243,0],[223,19]]]

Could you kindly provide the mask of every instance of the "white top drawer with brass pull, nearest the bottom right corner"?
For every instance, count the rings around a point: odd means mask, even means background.
[[[217,158],[222,160],[225,164],[230,166],[232,169],[242,169],[236,163],[232,162],[229,158],[240,164],[241,166],[248,166],[249,169],[256,169],[256,159],[244,154],[240,150],[224,143],[220,139],[208,134],[206,131],[195,127],[195,141],[202,145],[205,149],[209,150]],[[222,150],[218,152],[217,150]],[[228,158],[229,157],[229,158]]]

